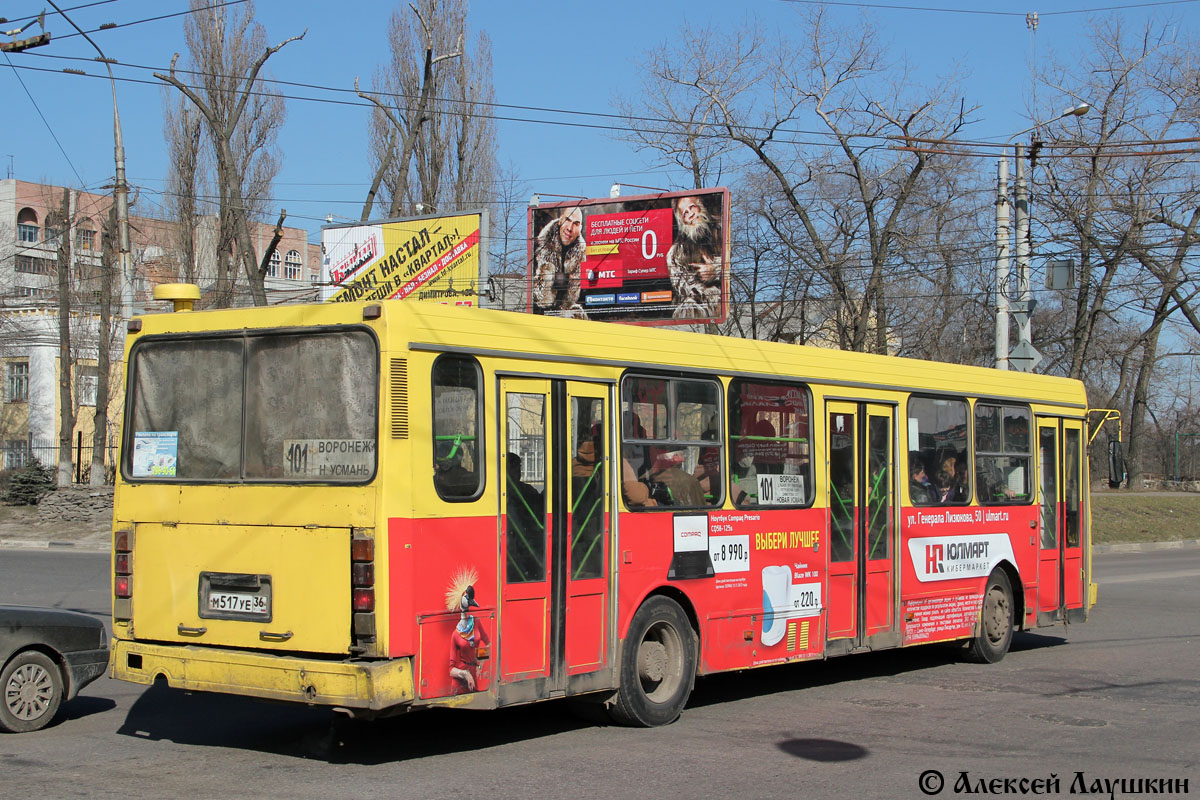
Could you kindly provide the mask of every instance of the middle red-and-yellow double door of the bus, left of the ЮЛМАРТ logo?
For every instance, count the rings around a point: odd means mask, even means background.
[[[829,589],[827,638],[835,651],[893,645],[895,457],[893,409],[827,404]]]

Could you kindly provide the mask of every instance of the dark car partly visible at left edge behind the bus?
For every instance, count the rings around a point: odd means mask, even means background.
[[[0,606],[0,730],[44,728],[108,666],[108,632],[94,616]]]

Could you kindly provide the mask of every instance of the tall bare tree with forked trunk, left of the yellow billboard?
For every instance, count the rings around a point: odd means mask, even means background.
[[[220,197],[218,239],[233,243],[234,261],[250,284],[256,306],[266,305],[268,264],[259,261],[250,222],[263,213],[271,181],[278,172],[272,148],[286,110],[283,98],[271,92],[259,72],[274,54],[305,34],[268,47],[254,6],[240,10],[214,7],[190,0],[193,11],[184,24],[196,84],[176,73],[179,54],[167,74],[155,77],[178,89],[204,116],[216,162]]]

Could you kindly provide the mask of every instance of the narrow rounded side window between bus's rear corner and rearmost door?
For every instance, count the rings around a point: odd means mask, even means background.
[[[474,500],[484,489],[482,373],[474,359],[433,363],[433,487],[443,500]]]

